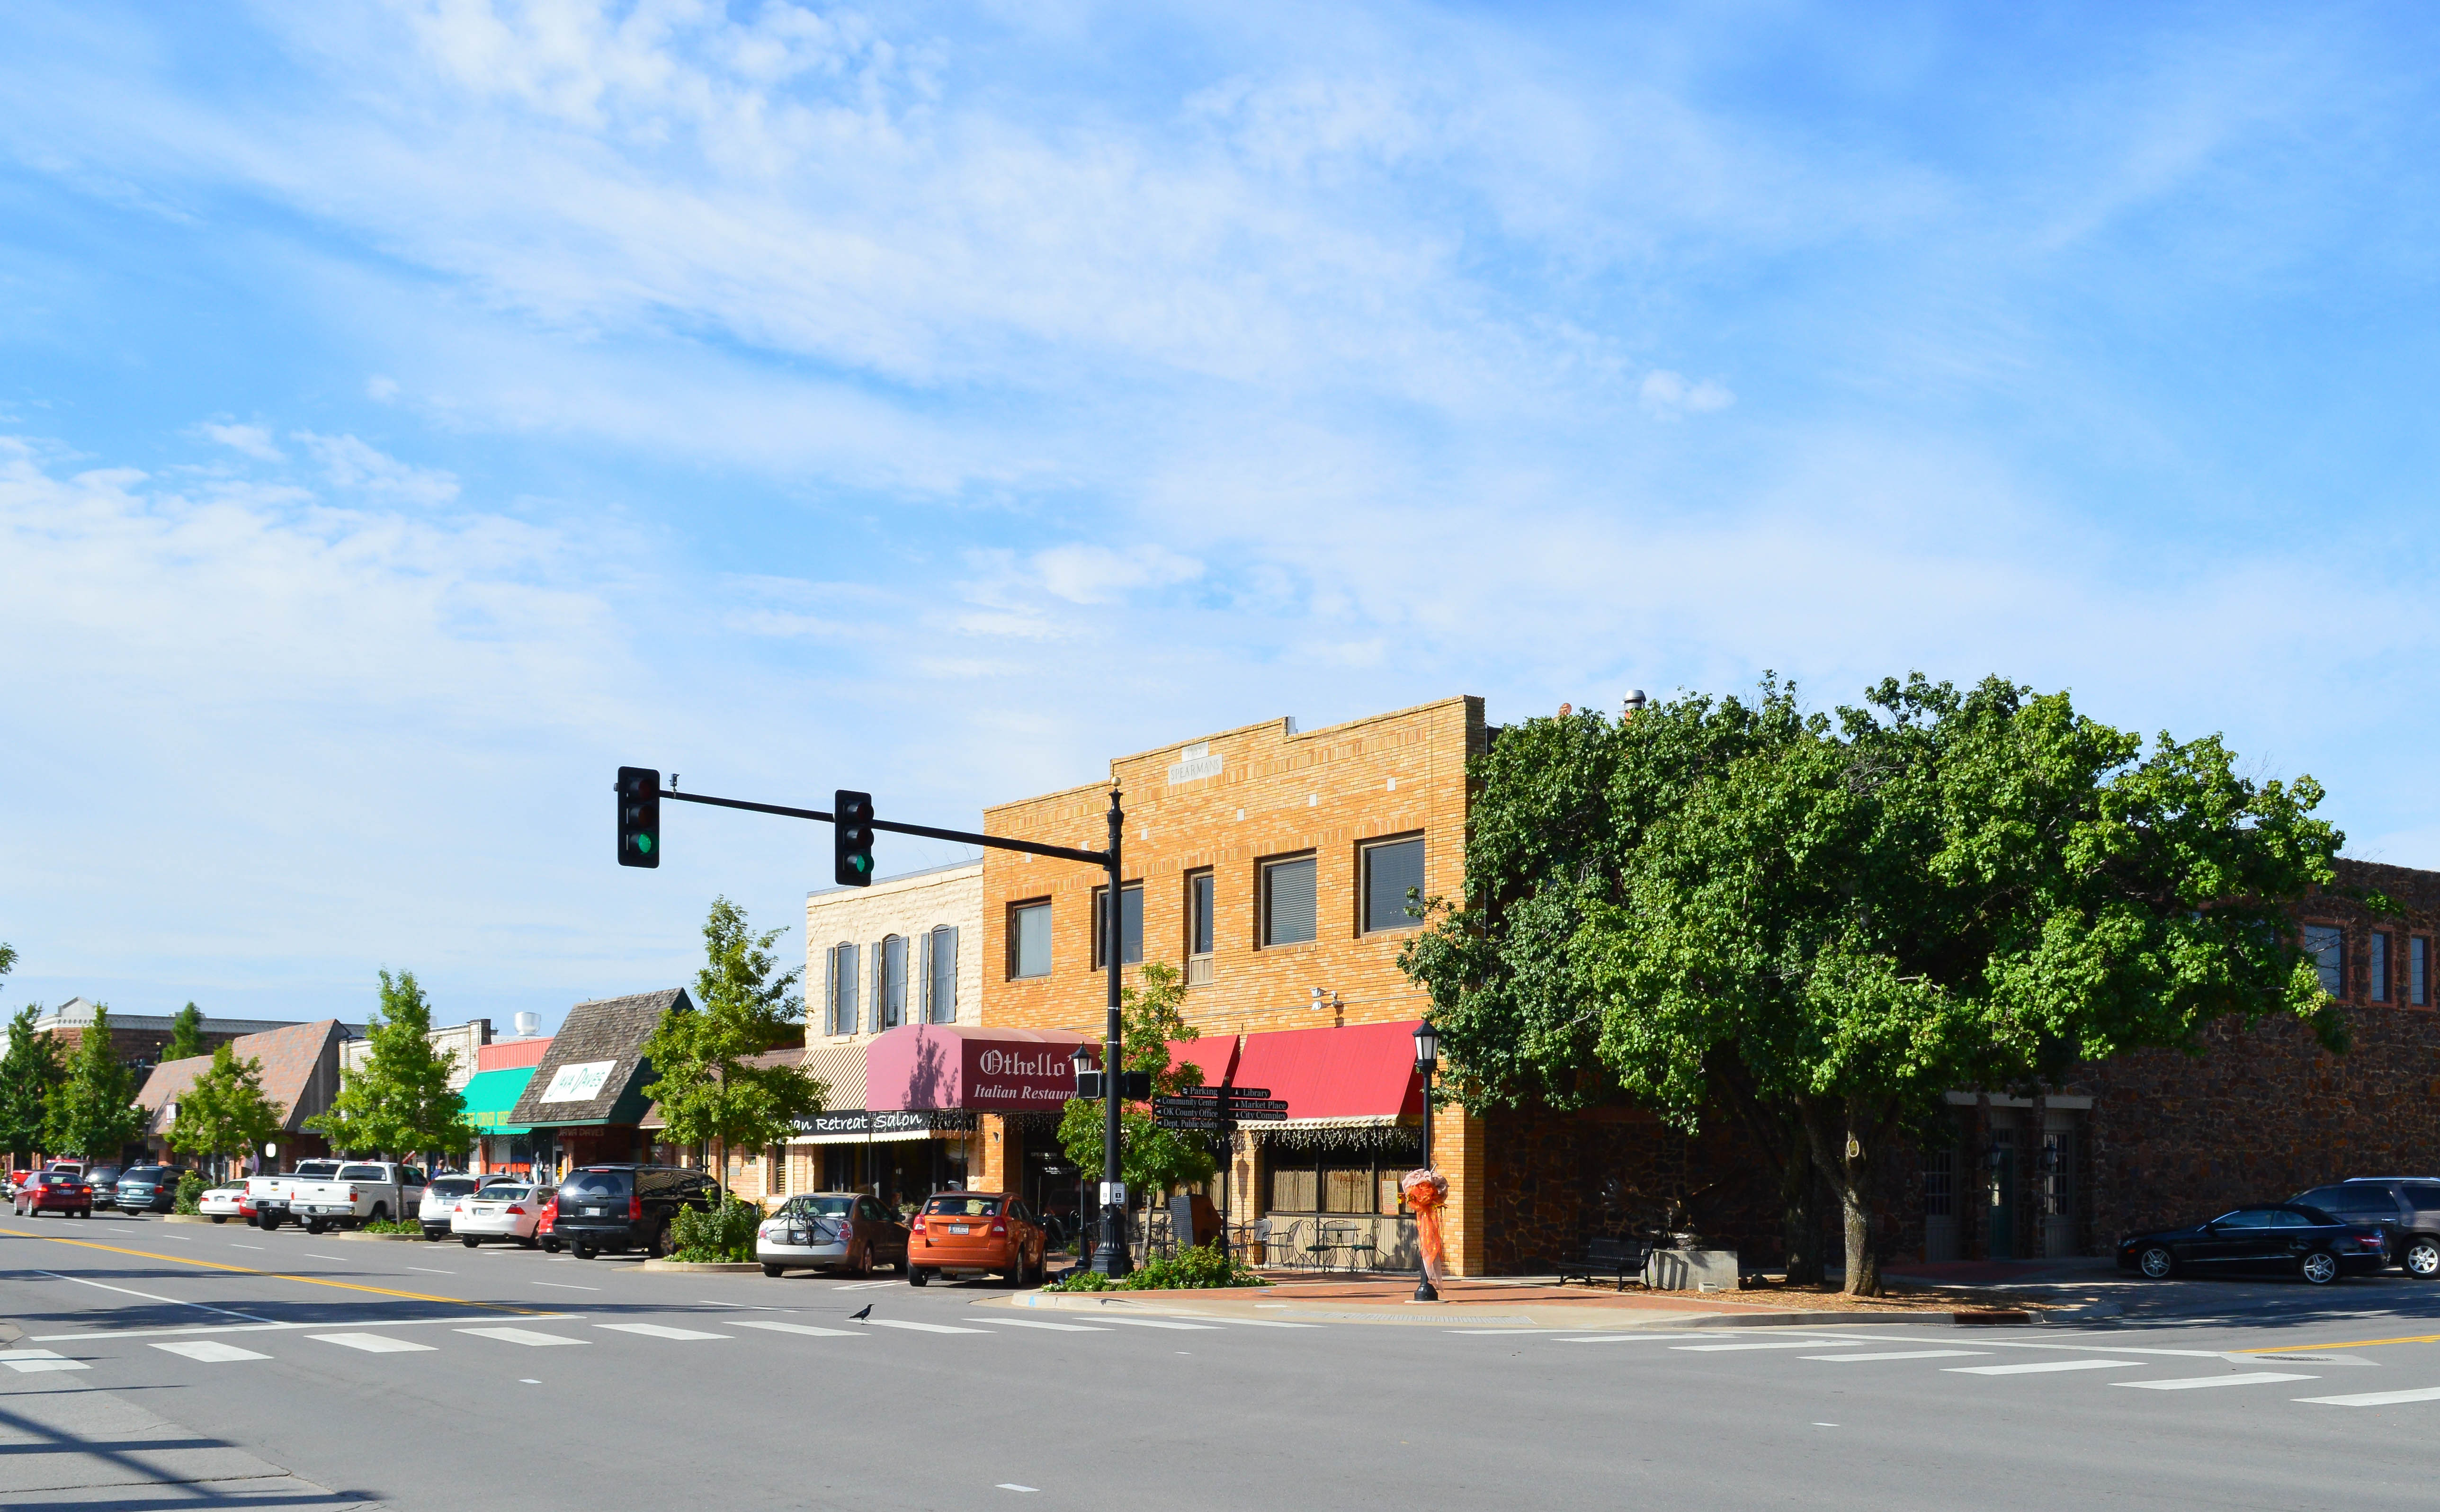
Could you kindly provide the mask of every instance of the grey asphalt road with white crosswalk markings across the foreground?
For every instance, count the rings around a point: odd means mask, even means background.
[[[110,1214],[0,1217],[0,1278],[24,1334],[0,1505],[2420,1510],[2440,1485],[2440,1288],[2081,1329],[1154,1327],[976,1307],[1005,1295],[983,1283]]]

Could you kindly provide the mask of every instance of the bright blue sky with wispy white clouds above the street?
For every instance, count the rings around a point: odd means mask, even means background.
[[[2440,866],[2418,7],[15,5],[10,1005],[683,980],[1276,715],[2072,688]],[[886,868],[952,858],[891,841]],[[788,949],[800,951],[791,932]]]

